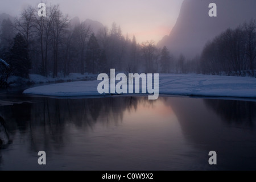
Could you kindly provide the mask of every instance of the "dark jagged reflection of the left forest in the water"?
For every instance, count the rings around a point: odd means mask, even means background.
[[[10,134],[18,130],[21,135],[29,135],[34,151],[63,147],[69,140],[67,127],[86,132],[96,123],[115,124],[122,121],[125,110],[136,110],[139,102],[149,102],[147,97],[35,99],[35,104],[14,104],[0,111]]]

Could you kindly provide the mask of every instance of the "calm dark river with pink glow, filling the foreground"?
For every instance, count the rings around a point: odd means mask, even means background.
[[[10,92],[0,95],[0,121],[1,170],[256,169],[255,101]]]

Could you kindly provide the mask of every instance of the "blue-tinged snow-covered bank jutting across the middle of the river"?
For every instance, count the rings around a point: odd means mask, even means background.
[[[45,85],[24,90],[23,93],[57,97],[100,96],[98,83],[100,81],[96,80]],[[256,98],[256,78],[160,74],[159,94]]]

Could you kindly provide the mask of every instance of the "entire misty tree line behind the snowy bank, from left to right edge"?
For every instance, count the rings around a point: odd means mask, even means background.
[[[166,46],[153,41],[137,43],[123,36],[121,27],[102,27],[93,32],[85,22],[72,24],[58,5],[38,16],[37,7],[27,7],[14,21],[3,20],[0,28],[0,85],[9,75],[29,78],[30,73],[65,77],[69,73],[108,73],[111,68],[126,73],[203,73],[256,76],[256,23],[251,20],[229,28],[208,42],[200,56],[175,58]]]

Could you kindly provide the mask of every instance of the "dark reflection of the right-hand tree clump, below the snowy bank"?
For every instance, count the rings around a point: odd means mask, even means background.
[[[256,103],[232,100],[204,100],[205,105],[220,115],[229,124],[254,127]]]

